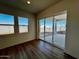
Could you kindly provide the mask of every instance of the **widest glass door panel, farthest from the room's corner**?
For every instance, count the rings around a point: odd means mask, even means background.
[[[64,49],[66,35],[66,14],[55,16],[54,28],[54,44]]]

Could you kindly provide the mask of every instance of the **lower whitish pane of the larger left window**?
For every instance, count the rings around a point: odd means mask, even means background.
[[[0,25],[0,35],[14,33],[14,26],[2,26]]]

